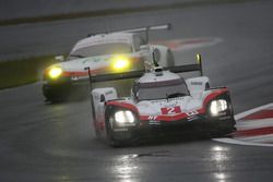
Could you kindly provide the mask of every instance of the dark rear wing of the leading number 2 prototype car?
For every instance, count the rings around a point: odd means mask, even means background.
[[[202,71],[201,56],[197,54],[197,59],[198,59],[198,63],[195,63],[195,64],[169,66],[169,68],[164,68],[164,70],[168,70],[173,73],[186,73],[186,72],[199,71],[201,76],[202,76],[203,71]],[[130,71],[130,72],[123,72],[123,73],[92,75],[90,66],[84,68],[84,70],[88,71],[91,85],[93,83],[97,83],[97,82],[117,81],[117,80],[126,80],[126,78],[138,78],[138,77],[141,77],[145,72],[149,72],[146,70],[139,70],[139,71]]]

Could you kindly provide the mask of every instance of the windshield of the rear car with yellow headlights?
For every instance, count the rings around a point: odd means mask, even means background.
[[[130,53],[132,47],[126,43],[107,43],[100,45],[92,45],[88,47],[76,49],[69,54],[69,59],[95,57],[103,54]]]

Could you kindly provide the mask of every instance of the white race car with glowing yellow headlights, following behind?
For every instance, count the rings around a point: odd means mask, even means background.
[[[151,47],[156,51],[157,62],[174,65],[171,51],[161,45],[149,45],[149,32],[169,29],[170,25],[157,25],[114,33],[91,35],[76,43],[68,58],[56,57],[60,62],[44,71],[43,93],[46,101],[66,99],[71,92],[86,86],[90,68],[92,74],[118,73],[153,66]],[[142,38],[145,32],[146,38]]]

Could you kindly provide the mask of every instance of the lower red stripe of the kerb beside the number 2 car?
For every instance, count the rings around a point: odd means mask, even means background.
[[[237,131],[237,132],[232,133],[233,136],[260,136],[260,135],[268,135],[268,134],[273,134],[273,126],[244,130],[244,131]]]

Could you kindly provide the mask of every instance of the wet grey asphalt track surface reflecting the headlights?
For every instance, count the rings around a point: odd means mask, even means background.
[[[25,49],[29,50],[46,46],[67,48],[94,27],[102,31],[104,26],[120,28],[163,22],[173,23],[175,28],[154,35],[155,40],[219,37],[223,41],[216,46],[176,53],[177,63],[191,60],[195,51],[201,52],[212,84],[227,85],[236,112],[241,112],[273,100],[272,10],[273,3],[266,1],[5,28],[10,31],[7,34],[25,33],[25,37],[35,32],[38,44],[33,48],[32,44],[36,44],[26,41]],[[55,38],[60,44],[50,45]],[[17,47],[24,40],[24,37],[19,39]],[[0,181],[3,182],[249,182],[273,178],[273,148],[269,147],[194,139],[110,148],[93,137],[87,99],[45,105],[39,84],[0,92]]]

